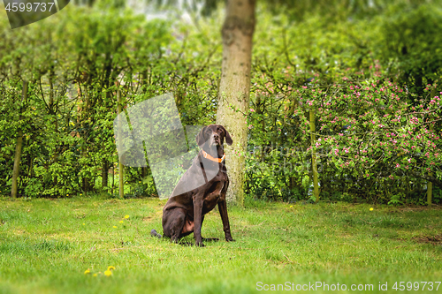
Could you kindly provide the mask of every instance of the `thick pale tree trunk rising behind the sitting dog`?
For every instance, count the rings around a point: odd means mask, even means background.
[[[255,30],[255,0],[227,0],[223,36],[223,62],[219,84],[217,124],[231,134],[225,148],[230,185],[227,201],[242,206],[247,148],[246,117],[250,99],[252,39]],[[239,109],[240,112],[236,112]],[[242,112],[242,113],[241,113]]]

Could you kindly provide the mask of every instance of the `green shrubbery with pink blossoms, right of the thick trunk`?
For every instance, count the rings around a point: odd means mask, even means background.
[[[262,89],[269,87],[267,83]],[[353,194],[358,196],[354,200],[423,204],[423,180],[433,173],[440,185],[438,96],[417,99],[379,77],[342,77],[339,84],[316,78],[308,86],[293,87],[279,101],[259,97],[254,107],[248,114],[248,189],[258,198],[267,199],[270,190],[275,200],[291,200],[290,195],[281,195],[287,188],[304,191],[301,199],[311,195],[311,179],[306,182],[305,176],[311,177],[312,153],[319,156],[323,197],[340,191],[347,195],[340,200],[350,200]],[[312,109],[316,112],[313,146],[306,115]]]

